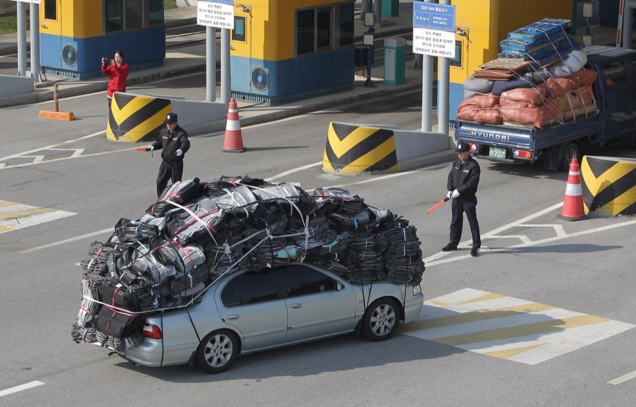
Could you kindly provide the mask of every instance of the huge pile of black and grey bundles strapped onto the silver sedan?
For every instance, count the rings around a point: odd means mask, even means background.
[[[139,220],[121,219],[81,262],[71,335],[107,349],[139,345],[149,314],[202,299],[223,274],[310,262],[350,281],[407,286],[425,270],[417,229],[347,190],[249,177],[177,182]],[[372,288],[372,287],[371,287]]]

